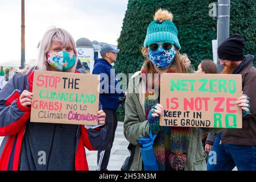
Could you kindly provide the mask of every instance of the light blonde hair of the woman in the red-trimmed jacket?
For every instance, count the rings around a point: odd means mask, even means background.
[[[52,42],[58,42],[63,45],[63,47],[71,46],[76,57],[76,64],[77,64],[77,51],[76,51],[76,43],[72,38],[69,32],[65,31],[62,28],[51,27],[49,30],[44,34],[43,39],[39,42],[38,48],[38,58],[36,60],[36,67],[39,70],[47,71],[48,63],[47,63],[47,53],[51,48]],[[71,72],[75,72],[76,64],[71,68]],[[35,68],[34,68],[35,69]],[[24,74],[28,74],[31,71],[31,67],[23,69],[22,72]]]

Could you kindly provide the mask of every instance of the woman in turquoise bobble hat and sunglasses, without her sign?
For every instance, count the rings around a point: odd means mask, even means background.
[[[163,115],[163,106],[159,104],[159,94],[157,94],[161,89],[159,75],[187,72],[178,52],[179,49],[177,28],[172,22],[172,14],[167,10],[158,10],[154,21],[147,28],[144,40],[142,53],[147,59],[141,71],[131,77],[126,98],[124,134],[126,139],[135,146],[130,169],[206,170],[206,155],[199,128],[159,126],[159,116]],[[150,73],[154,78],[150,77]],[[159,75],[154,75],[156,73]],[[147,76],[149,79],[143,79]],[[243,98],[240,100],[244,101]],[[143,148],[142,142],[145,138],[154,138],[151,134],[155,136],[153,144],[155,155],[148,159],[147,156],[144,158],[140,146]],[[150,154],[152,154],[151,151]],[[154,159],[155,166],[150,167],[152,161],[146,166],[146,158]]]

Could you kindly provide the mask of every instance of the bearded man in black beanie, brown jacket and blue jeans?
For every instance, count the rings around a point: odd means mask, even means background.
[[[217,153],[216,164],[207,164],[209,171],[256,170],[256,68],[254,56],[243,55],[243,38],[233,35],[218,47],[218,57],[224,74],[242,75],[242,90],[246,100],[242,106],[242,129],[224,129],[218,134],[212,151]]]

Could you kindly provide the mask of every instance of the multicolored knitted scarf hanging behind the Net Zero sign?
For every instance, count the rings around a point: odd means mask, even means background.
[[[146,69],[147,64],[142,65],[141,73],[146,74]],[[172,64],[168,73],[176,72],[176,65]],[[160,85],[160,76],[158,82],[154,82],[154,84],[155,86]],[[159,170],[184,170],[187,166],[187,150],[191,128],[159,126],[159,117],[152,117],[155,105],[159,103],[159,98],[153,98],[153,96],[154,93],[148,92],[148,86],[146,86],[145,113],[152,134],[158,133],[153,147]]]

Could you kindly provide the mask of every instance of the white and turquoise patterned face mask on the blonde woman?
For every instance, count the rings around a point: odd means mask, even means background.
[[[47,63],[58,71],[67,72],[69,68],[76,64],[76,57],[75,54],[66,51],[48,53]]]

